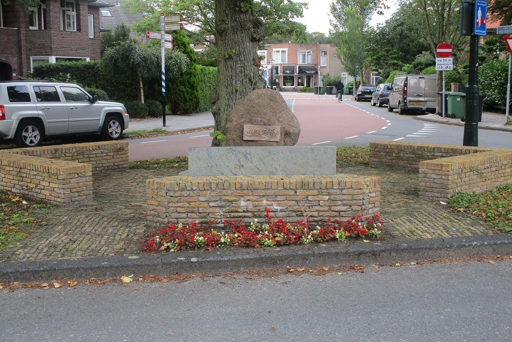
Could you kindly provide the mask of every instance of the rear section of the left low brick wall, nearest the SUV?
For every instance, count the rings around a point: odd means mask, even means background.
[[[92,166],[93,172],[128,167],[127,142],[95,142],[67,144],[58,146],[40,146],[8,150],[9,153],[34,157],[69,160]]]

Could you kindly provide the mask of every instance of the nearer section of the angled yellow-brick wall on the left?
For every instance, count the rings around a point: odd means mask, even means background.
[[[0,189],[14,195],[64,207],[93,199],[89,164],[0,152],[0,174]]]

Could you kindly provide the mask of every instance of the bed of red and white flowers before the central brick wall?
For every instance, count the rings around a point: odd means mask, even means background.
[[[305,220],[291,225],[282,218],[273,221],[270,209],[266,209],[265,223],[258,220],[245,225],[238,222],[224,220],[224,231],[212,229],[212,222],[208,227],[199,226],[192,222],[187,225],[169,223],[159,231],[152,231],[142,250],[156,252],[157,250],[196,250],[214,249],[218,246],[239,247],[273,247],[290,244],[309,244],[312,242],[325,242],[331,239],[344,241],[346,237],[377,237],[380,234],[382,221],[378,213],[372,217],[362,219],[357,215],[352,219],[343,221],[328,219],[323,227],[316,226],[311,229],[310,223]]]

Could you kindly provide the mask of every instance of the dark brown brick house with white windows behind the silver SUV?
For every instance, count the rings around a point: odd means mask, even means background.
[[[101,0],[41,0],[28,13],[0,4],[0,81],[27,77],[39,63],[100,56]]]

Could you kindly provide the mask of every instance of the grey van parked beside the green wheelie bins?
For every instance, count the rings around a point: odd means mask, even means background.
[[[396,75],[391,83],[388,111],[398,109],[400,115],[409,111],[435,113],[436,92],[436,75]]]

